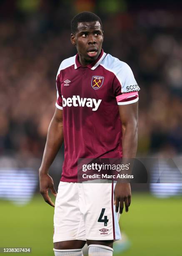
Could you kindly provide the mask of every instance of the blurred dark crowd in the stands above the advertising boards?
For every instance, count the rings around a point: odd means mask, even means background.
[[[127,10],[113,1],[2,1],[0,154],[41,158],[55,109],[60,62],[76,51],[70,20],[82,10],[102,18],[105,52],[127,62],[141,88],[138,155],[182,152],[182,15]],[[112,2],[112,1],[111,1]],[[25,4],[27,3],[27,4]],[[32,4],[31,4],[32,3]]]

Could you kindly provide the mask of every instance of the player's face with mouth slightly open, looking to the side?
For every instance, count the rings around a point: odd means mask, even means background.
[[[103,42],[99,21],[78,23],[77,33],[71,34],[71,41],[77,48],[82,65],[95,61],[100,54]]]

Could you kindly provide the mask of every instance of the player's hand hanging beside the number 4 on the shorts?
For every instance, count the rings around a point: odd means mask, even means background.
[[[120,214],[122,214],[125,202],[125,211],[128,212],[128,207],[131,204],[131,187],[130,183],[116,183],[114,190],[114,205],[116,212],[120,207]]]

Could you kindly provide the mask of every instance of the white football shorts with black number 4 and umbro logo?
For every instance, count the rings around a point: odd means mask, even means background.
[[[119,240],[115,183],[60,182],[55,201],[53,242]]]

